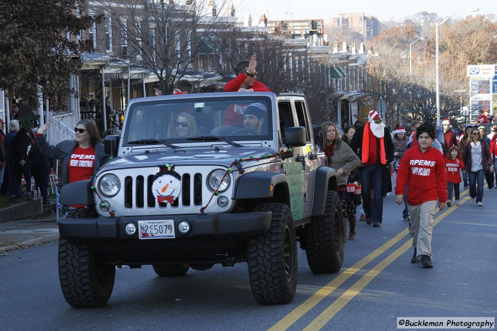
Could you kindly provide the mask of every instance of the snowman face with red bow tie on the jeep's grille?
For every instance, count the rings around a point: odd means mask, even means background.
[[[152,194],[161,205],[172,204],[181,194],[181,176],[174,171],[174,164],[159,166],[152,183]]]

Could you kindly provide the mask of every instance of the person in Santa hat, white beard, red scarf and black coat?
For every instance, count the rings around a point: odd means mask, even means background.
[[[366,223],[379,227],[383,220],[383,198],[392,192],[390,163],[394,144],[389,130],[376,110],[368,114],[368,123],[355,132],[350,148],[362,162],[362,199]]]

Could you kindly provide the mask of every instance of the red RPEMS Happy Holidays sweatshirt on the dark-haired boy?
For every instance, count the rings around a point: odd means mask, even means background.
[[[422,152],[419,147],[409,148],[401,159],[397,170],[395,194],[404,194],[407,189],[407,203],[419,205],[426,201],[447,200],[445,161],[443,155],[431,147]]]

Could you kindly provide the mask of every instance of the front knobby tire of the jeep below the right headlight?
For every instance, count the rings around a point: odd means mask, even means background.
[[[247,244],[250,286],[263,305],[289,303],[297,288],[297,240],[290,208],[285,203],[264,203],[254,211],[272,211],[271,227]]]

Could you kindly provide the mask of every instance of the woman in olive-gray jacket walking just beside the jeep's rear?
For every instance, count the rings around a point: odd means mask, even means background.
[[[336,171],[336,184],[338,186],[338,196],[342,201],[342,210],[345,210],[343,205],[343,195],[346,190],[348,175],[352,170],[357,168],[361,161],[357,154],[344,143],[336,125],[332,122],[325,122],[321,126],[323,134],[323,150],[328,158],[328,166]],[[354,222],[355,223],[355,222]],[[347,237],[347,218],[343,217],[343,230],[345,238]],[[355,229],[354,229],[355,236]]]

